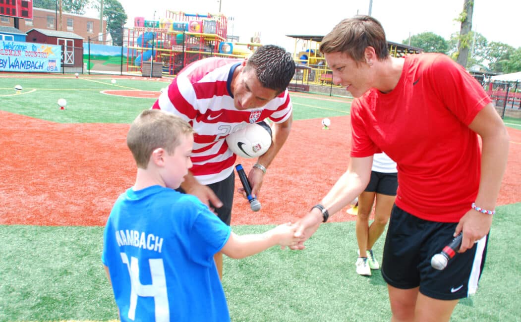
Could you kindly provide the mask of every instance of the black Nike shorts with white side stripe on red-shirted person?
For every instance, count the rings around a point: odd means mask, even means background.
[[[456,253],[445,269],[430,264],[432,256],[454,239],[456,225],[423,220],[394,205],[383,246],[383,279],[399,289],[419,286],[421,294],[439,300],[474,294],[485,265],[488,235],[465,253]]]

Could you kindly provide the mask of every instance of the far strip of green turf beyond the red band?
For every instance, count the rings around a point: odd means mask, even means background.
[[[69,76],[70,77],[70,76]],[[0,109],[61,123],[130,123],[143,109],[150,108],[155,98],[135,98],[100,93],[104,90],[160,91],[167,82],[110,77],[83,77],[78,79],[57,76],[48,78],[0,78]],[[14,95],[14,86],[23,87],[22,94]],[[31,92],[32,90],[35,90]],[[60,110],[58,98],[67,100],[65,110]],[[328,101],[325,101],[328,100]],[[309,119],[347,115],[350,104],[345,98],[329,96],[292,95],[294,119]]]

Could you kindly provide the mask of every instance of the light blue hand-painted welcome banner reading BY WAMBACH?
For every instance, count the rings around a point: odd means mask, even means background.
[[[59,72],[61,46],[20,41],[0,42],[0,71]]]

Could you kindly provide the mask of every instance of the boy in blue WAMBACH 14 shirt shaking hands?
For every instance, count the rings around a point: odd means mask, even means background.
[[[197,197],[175,191],[192,167],[193,129],[173,114],[144,110],[127,145],[137,176],[110,213],[102,255],[120,319],[230,320],[214,254],[243,258],[295,245],[295,227],[238,236]]]

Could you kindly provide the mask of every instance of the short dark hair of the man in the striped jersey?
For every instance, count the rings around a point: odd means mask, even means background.
[[[263,87],[282,93],[295,74],[295,62],[286,49],[276,45],[264,45],[246,60],[246,68],[255,69]]]

